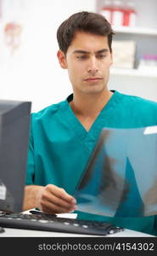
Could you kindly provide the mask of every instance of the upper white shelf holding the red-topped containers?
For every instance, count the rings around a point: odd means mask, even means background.
[[[130,33],[130,34],[157,36],[157,28],[113,26],[113,30],[118,33]]]

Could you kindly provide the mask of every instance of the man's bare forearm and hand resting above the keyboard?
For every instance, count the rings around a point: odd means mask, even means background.
[[[76,210],[76,199],[53,184],[26,185],[23,210],[39,208],[47,213],[64,213]]]

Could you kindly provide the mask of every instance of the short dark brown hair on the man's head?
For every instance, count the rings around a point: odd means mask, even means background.
[[[103,15],[82,11],[64,20],[57,31],[59,49],[64,54],[66,54],[72,40],[75,38],[76,32],[88,32],[98,36],[108,37],[109,50],[112,52],[111,44],[114,32],[109,21]]]

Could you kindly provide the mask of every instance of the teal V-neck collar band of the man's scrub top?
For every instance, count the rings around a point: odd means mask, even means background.
[[[81,125],[81,122],[76,118],[72,108],[70,108],[69,102],[72,101],[73,95],[71,94],[67,97],[65,103],[66,108],[64,108],[66,120],[70,127],[76,132],[76,136],[79,137],[79,139],[81,139],[83,142],[93,142],[98,138],[98,135],[105,126],[107,119],[109,119],[110,114],[114,111],[115,105],[117,102],[120,102],[121,94],[116,90],[112,90],[112,92],[114,92],[114,94],[110,97],[109,102],[107,102],[102,111],[98,114],[98,117],[93,122],[93,125],[89,131],[87,131],[84,126]]]

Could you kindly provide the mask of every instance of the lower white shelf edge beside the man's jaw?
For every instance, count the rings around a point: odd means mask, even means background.
[[[111,75],[122,75],[122,76],[132,76],[132,77],[143,77],[143,78],[151,78],[157,79],[156,71],[145,71],[145,70],[137,70],[137,69],[126,69],[126,68],[115,68],[112,67],[110,69]]]

